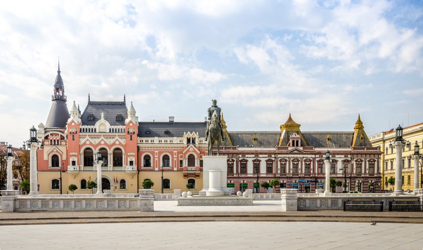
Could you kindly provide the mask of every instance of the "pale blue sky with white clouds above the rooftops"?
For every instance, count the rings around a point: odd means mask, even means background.
[[[68,99],[132,101],[140,121],[229,131],[367,135],[423,122],[423,1],[6,1],[0,5],[0,141],[46,123],[60,60]]]

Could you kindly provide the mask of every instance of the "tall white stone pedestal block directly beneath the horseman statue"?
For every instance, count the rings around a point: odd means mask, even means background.
[[[203,160],[203,171],[202,171],[202,189],[198,192],[199,196],[216,196],[216,195],[224,195],[224,190],[227,188],[227,171],[228,171],[228,164],[227,156],[221,155],[206,155],[202,156]],[[210,170],[212,170],[210,172]],[[219,171],[219,173],[217,173]],[[208,190],[210,187],[210,174],[213,175],[212,181],[213,183],[213,190]],[[219,177],[218,177],[219,175]],[[217,190],[216,190],[217,189]],[[207,191],[210,191],[207,193]],[[219,193],[215,193],[218,191]]]

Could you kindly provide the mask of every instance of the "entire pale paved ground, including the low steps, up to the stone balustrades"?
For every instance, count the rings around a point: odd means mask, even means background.
[[[276,200],[155,201],[154,212],[0,212],[0,249],[422,249],[421,223],[422,212],[282,212]]]

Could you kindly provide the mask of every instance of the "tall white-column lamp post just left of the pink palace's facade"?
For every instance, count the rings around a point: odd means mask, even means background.
[[[38,178],[37,178],[37,149],[44,148],[43,141],[37,139],[37,129],[32,126],[30,128],[30,139],[25,141],[30,147],[30,195],[37,196]]]

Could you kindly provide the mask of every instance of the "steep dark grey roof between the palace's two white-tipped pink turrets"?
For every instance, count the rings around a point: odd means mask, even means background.
[[[95,125],[101,119],[102,112],[104,113],[104,119],[112,126],[125,125],[125,119],[128,118],[126,101],[88,101],[81,115],[82,124]],[[116,115],[118,113],[123,116],[120,121],[116,121]],[[94,120],[88,120],[90,114],[94,115]]]

